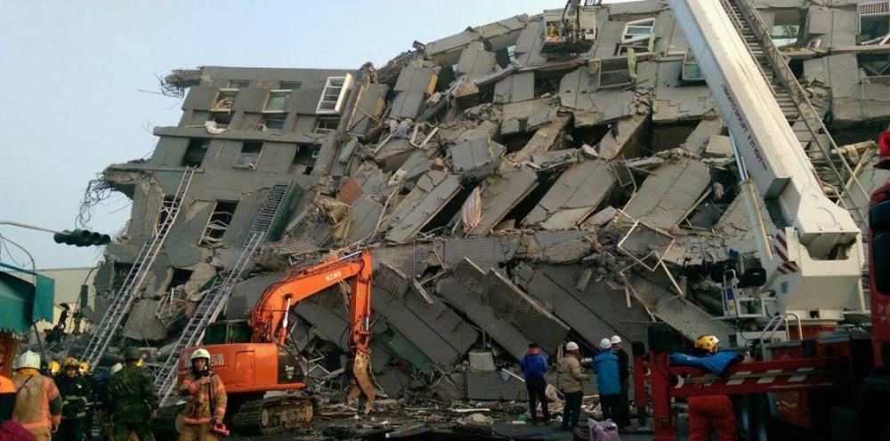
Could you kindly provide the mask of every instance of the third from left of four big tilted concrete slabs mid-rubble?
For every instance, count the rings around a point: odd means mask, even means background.
[[[574,164],[562,172],[522,225],[543,229],[570,229],[603,204],[618,183],[609,164],[602,160]]]

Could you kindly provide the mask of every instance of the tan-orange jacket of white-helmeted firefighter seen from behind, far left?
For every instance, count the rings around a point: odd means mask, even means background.
[[[12,377],[17,390],[12,421],[34,435],[44,435],[61,423],[61,413],[50,413],[50,401],[59,397],[52,379],[39,373],[20,373]]]

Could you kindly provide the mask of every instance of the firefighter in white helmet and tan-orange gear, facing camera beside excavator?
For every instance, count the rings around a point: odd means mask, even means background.
[[[179,387],[186,398],[182,412],[180,441],[212,441],[214,426],[223,424],[226,394],[223,380],[210,370],[210,352],[196,349],[191,353],[191,372]]]

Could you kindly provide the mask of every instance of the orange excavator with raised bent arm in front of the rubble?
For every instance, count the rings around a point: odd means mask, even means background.
[[[270,285],[256,301],[247,321],[215,322],[207,327],[204,345],[210,352],[210,367],[225,384],[229,396],[228,420],[239,433],[274,434],[312,421],[312,399],[296,391],[306,385],[304,365],[297,350],[286,344],[291,309],[297,302],[341,282],[351,282],[349,296],[349,342],[354,355],[352,386],[347,402],[361,395],[365,413],[376,395],[368,376],[370,360],[371,253],[362,251],[298,269]],[[183,350],[179,380],[190,371],[190,354]],[[268,396],[267,396],[268,395]]]

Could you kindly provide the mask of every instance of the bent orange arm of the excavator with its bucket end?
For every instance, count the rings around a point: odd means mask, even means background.
[[[365,413],[370,411],[376,395],[368,375],[370,360],[371,318],[371,253],[361,251],[319,265],[300,269],[270,285],[247,319],[253,329],[255,342],[275,342],[283,345],[287,337],[287,319],[291,308],[326,288],[350,281],[349,348],[355,352],[352,373],[355,384],[347,398],[352,401],[364,393],[368,398]]]

